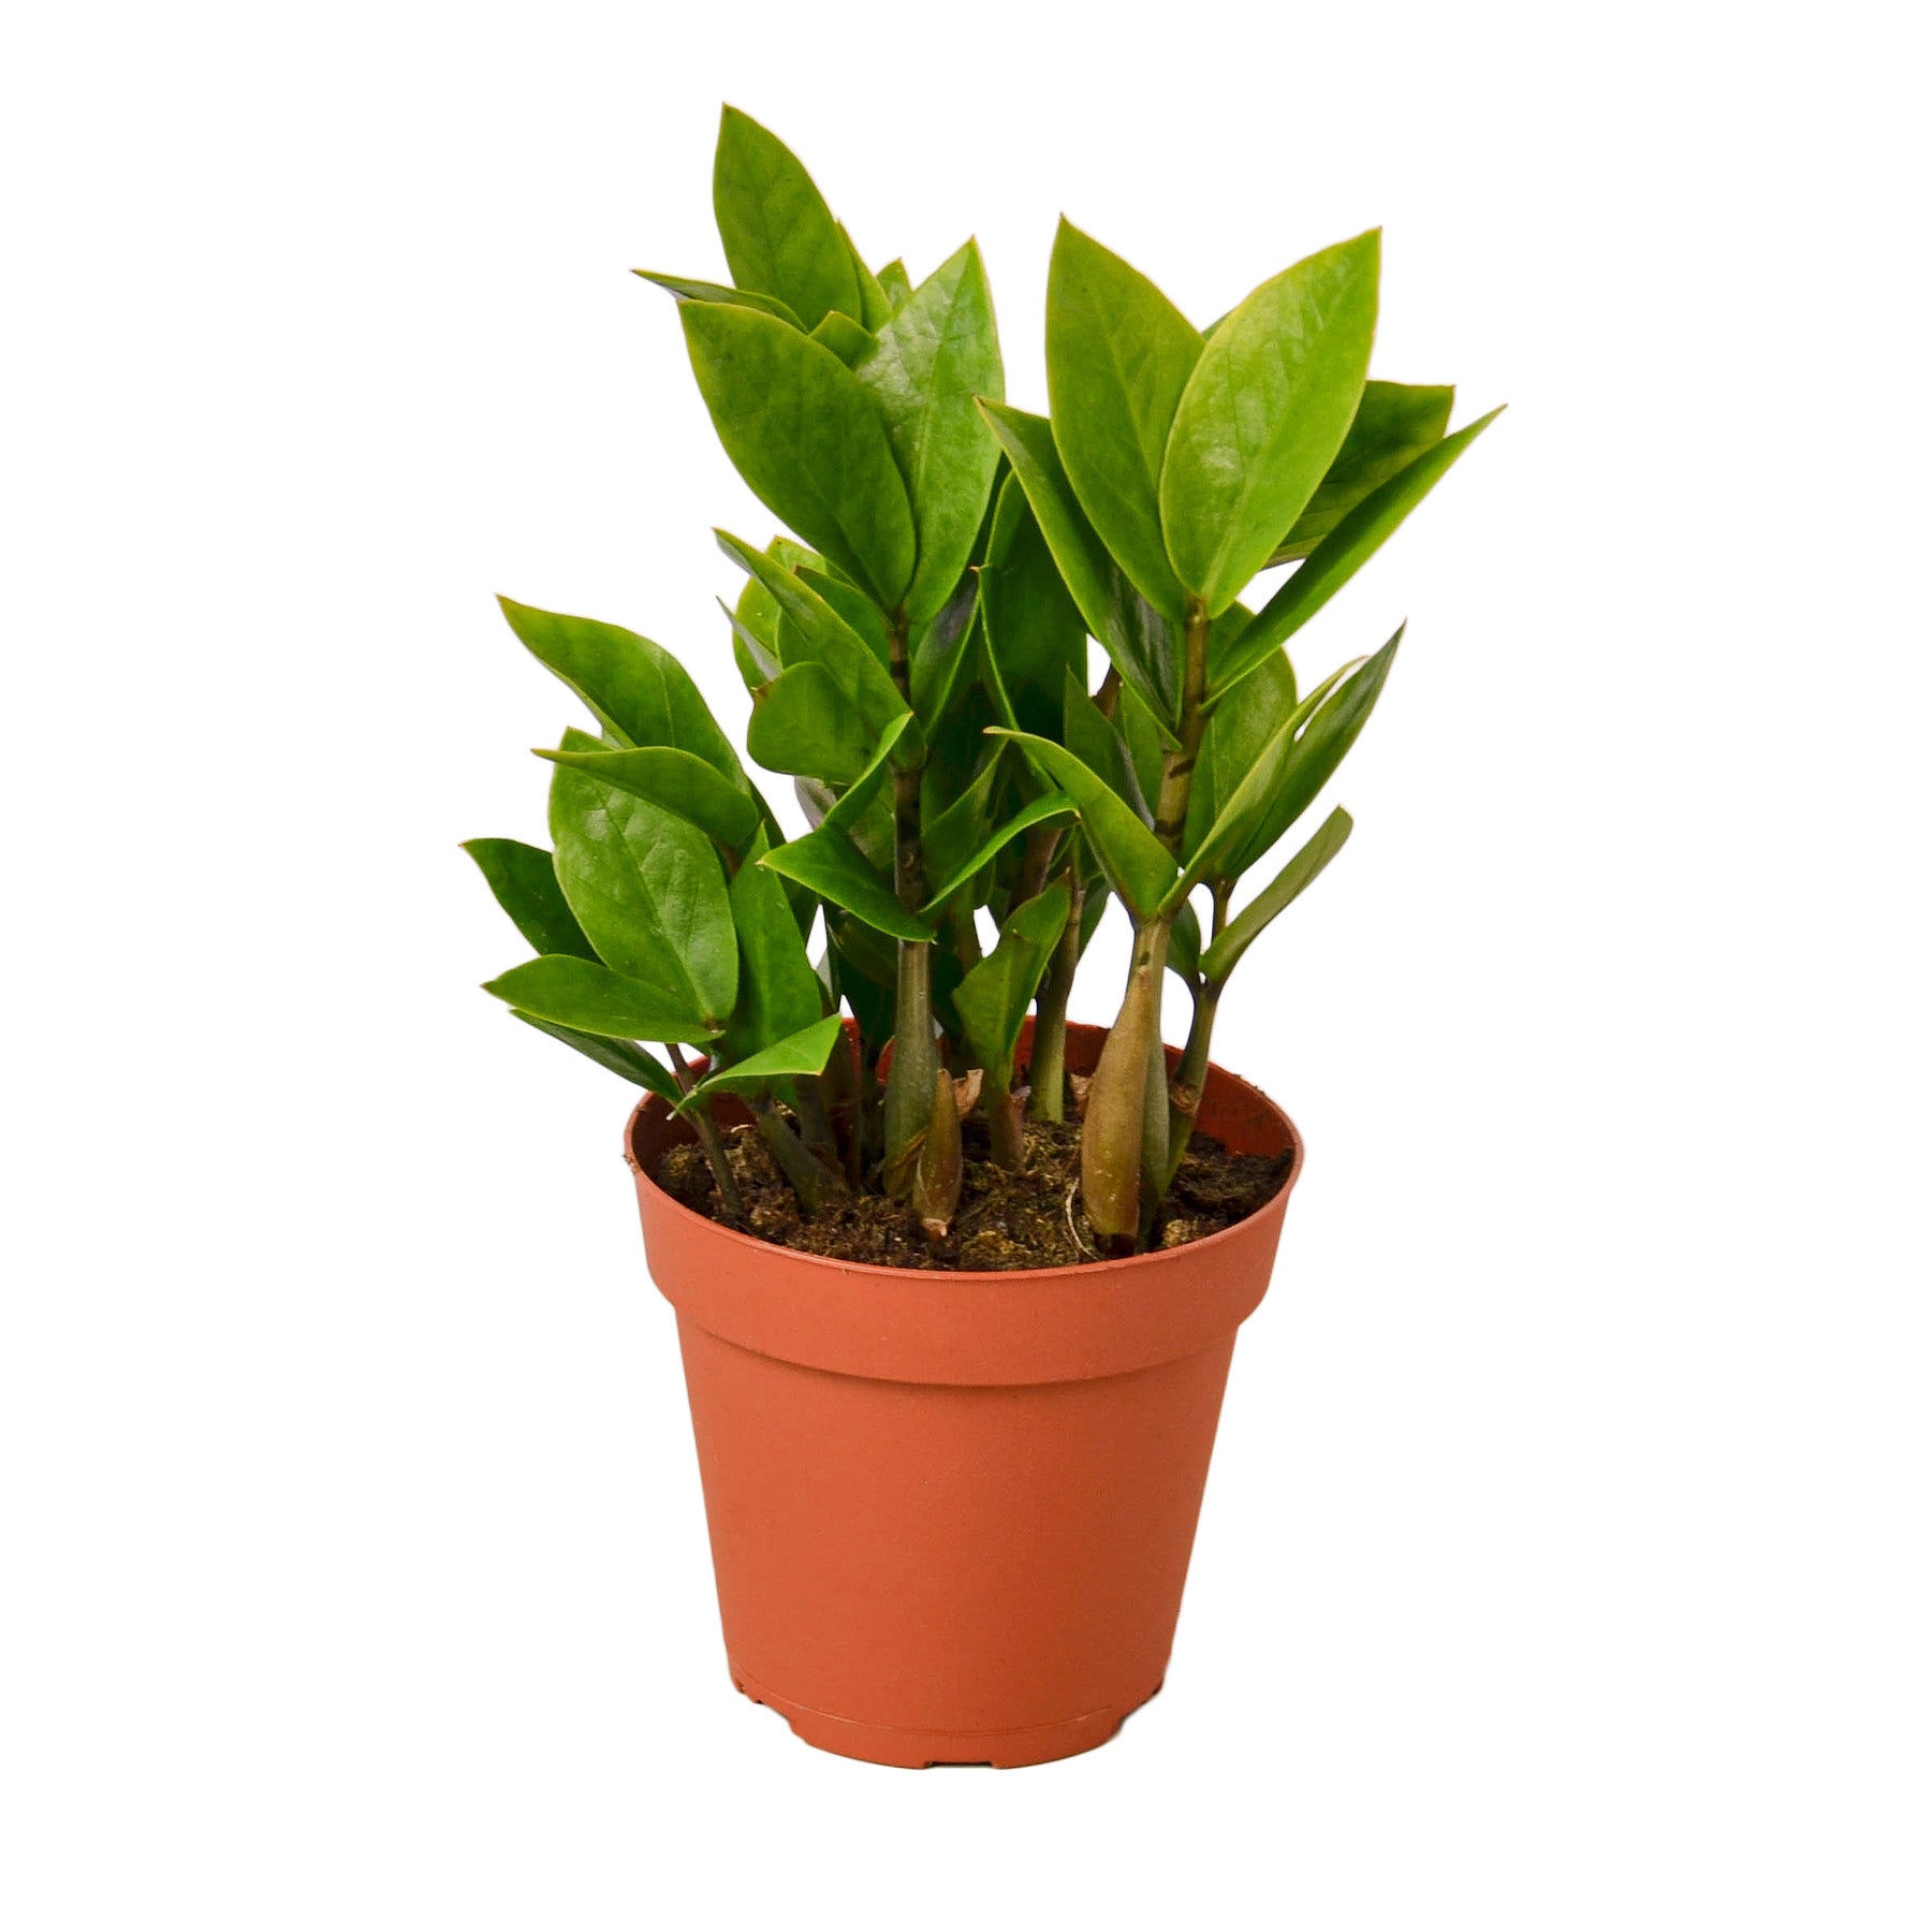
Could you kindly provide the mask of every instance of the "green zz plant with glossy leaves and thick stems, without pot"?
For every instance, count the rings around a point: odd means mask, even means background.
[[[639,272],[676,298],[719,439],[788,531],[717,541],[746,576],[724,612],[746,744],[811,829],[786,838],[661,645],[504,601],[597,728],[539,752],[554,850],[466,848],[537,952],[489,991],[686,1113],[728,1215],[723,1094],[808,1213],[881,1188],[937,1238],[962,1111],[983,1111],[1007,1167],[1028,1115],[1061,1119],[1068,993],[1117,896],[1134,951],[1080,1186],[1095,1252],[1136,1252],[1229,976],[1349,815],[1236,910],[1240,885],[1354,744],[1401,632],[1306,692],[1287,641],[1493,417],[1451,435],[1453,390],[1368,381],[1376,232],[1198,330],[1063,220],[1051,413],[1032,415],[1005,402],[976,243],[918,286],[898,261],[871,270],[796,156],[732,108],[713,197],[730,282]],[[1294,568],[1248,609],[1277,564]],[[1092,690],[1090,638],[1107,661]],[[1173,1072],[1169,974],[1192,1001]]]

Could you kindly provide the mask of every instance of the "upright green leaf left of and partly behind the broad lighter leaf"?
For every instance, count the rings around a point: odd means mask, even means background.
[[[1063,216],[1047,274],[1053,440],[1101,543],[1177,622],[1188,601],[1161,535],[1161,458],[1200,355],[1194,325]]]

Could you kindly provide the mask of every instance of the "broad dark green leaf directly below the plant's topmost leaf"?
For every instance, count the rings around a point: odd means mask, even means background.
[[[773,315],[678,311],[711,423],[757,498],[887,611],[912,582],[912,506],[871,396]]]

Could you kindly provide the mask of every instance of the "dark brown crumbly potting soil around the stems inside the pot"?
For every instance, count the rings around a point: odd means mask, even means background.
[[[960,1122],[966,1171],[952,1231],[933,1244],[918,1215],[883,1194],[844,1194],[808,1217],[798,1196],[746,1126],[724,1136],[726,1159],[744,1196],[744,1219],[723,1211],[703,1150],[667,1148],[657,1184],[697,1213],[724,1221],[781,1248],[825,1254],[873,1267],[1070,1267],[1095,1260],[1095,1242],[1080,1211],[1080,1126],[1076,1121],[1028,1121],[1026,1165],[1016,1173],[987,1157],[985,1122]],[[1211,1134],[1196,1134],[1169,1188],[1155,1246],[1179,1248],[1244,1221],[1273,1200],[1287,1179],[1289,1155],[1229,1153]]]

